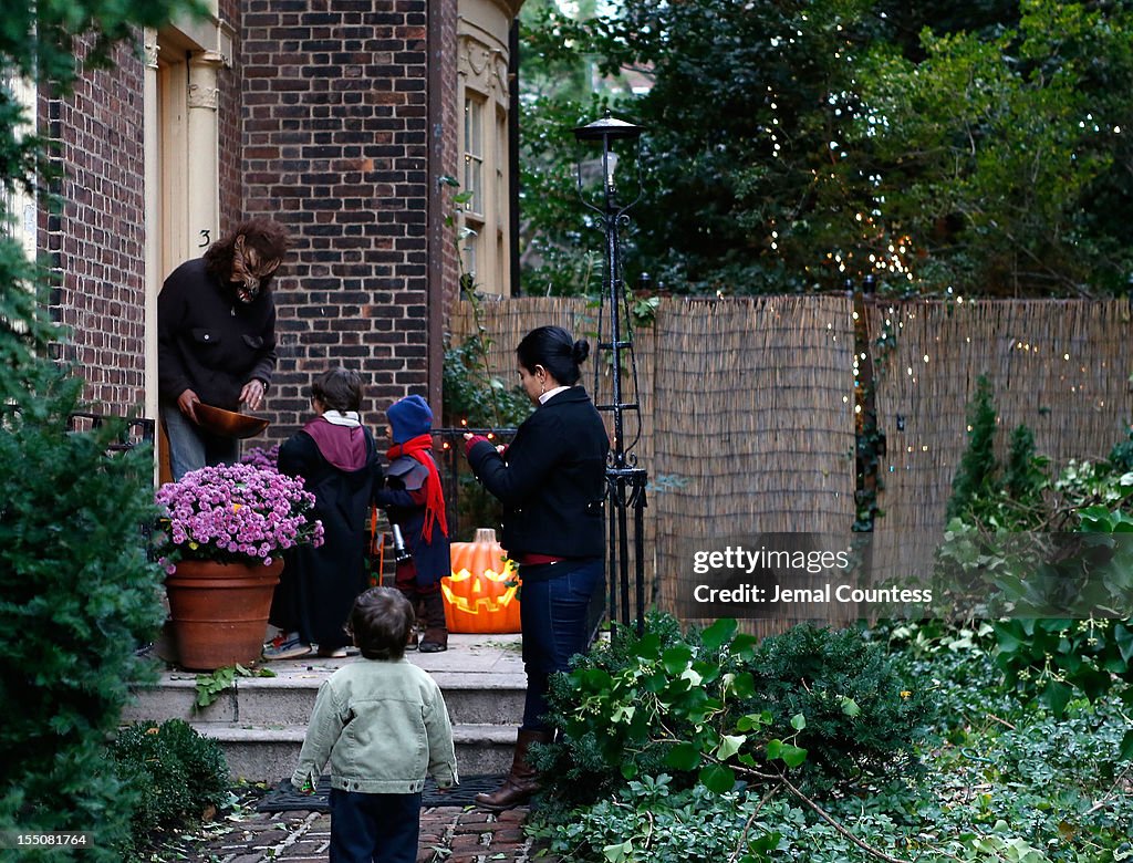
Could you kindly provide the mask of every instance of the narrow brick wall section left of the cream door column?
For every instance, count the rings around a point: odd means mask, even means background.
[[[40,246],[57,277],[52,315],[71,334],[60,356],[96,410],[127,415],[144,403],[143,63],[128,46],[114,59],[67,99],[41,92],[62,203],[41,216]]]

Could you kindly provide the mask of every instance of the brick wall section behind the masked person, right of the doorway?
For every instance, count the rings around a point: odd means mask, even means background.
[[[309,416],[307,386],[332,365],[363,373],[372,426],[427,393],[428,6],[245,5],[245,214],[279,219],[295,239],[276,283],[269,442]]]

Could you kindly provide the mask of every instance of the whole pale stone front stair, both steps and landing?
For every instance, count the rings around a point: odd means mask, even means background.
[[[443,653],[406,657],[436,680],[449,707],[457,763],[465,776],[503,774],[511,766],[527,678],[519,635],[451,634]],[[168,670],[138,690],[123,723],[184,719],[220,742],[233,778],[278,783],[291,776],[320,685],[356,658],[265,664],[274,677],[237,677],[206,708],[195,709],[196,674]]]

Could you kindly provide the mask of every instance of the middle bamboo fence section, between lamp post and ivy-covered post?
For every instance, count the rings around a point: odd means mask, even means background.
[[[695,550],[774,532],[847,533],[853,327],[845,298],[666,300],[656,323],[651,498],[659,606]],[[747,621],[763,634],[781,622]]]

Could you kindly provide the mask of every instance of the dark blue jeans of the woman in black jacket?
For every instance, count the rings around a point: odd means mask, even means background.
[[[519,575],[523,581],[519,617],[527,669],[523,728],[546,730],[543,715],[551,675],[565,672],[570,658],[585,653],[594,639],[597,615],[593,604],[602,599],[604,561],[595,557],[523,566]]]

